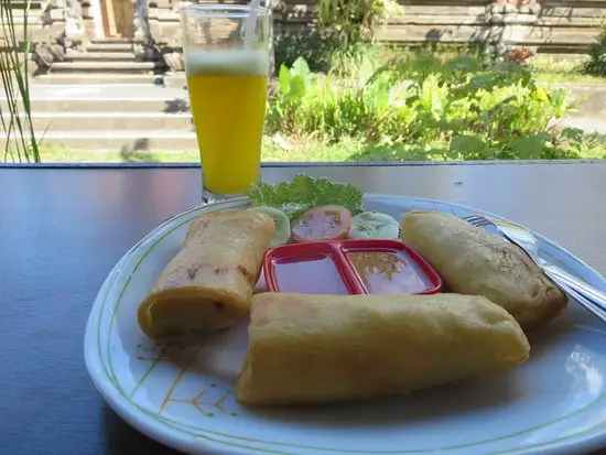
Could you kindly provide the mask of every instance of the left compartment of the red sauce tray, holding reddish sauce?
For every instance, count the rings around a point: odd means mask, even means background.
[[[270,249],[263,273],[270,292],[360,294],[359,282],[343,257],[327,241],[293,243]]]

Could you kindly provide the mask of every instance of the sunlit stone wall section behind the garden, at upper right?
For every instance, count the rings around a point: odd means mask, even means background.
[[[378,32],[382,41],[502,42],[547,53],[584,53],[606,14],[605,0],[490,2],[485,0],[413,0],[403,14]]]

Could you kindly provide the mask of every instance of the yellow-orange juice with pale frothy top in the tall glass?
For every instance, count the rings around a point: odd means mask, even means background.
[[[260,180],[267,52],[190,51],[185,68],[204,187],[246,193]]]

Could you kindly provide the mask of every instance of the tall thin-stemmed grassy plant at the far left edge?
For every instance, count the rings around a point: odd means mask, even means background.
[[[31,1],[23,8],[23,36],[18,34],[11,0],[0,0],[0,78],[7,109],[0,108],[6,134],[3,161],[40,162],[39,142],[31,117],[28,59],[31,41],[28,30]],[[21,58],[20,53],[23,53]]]

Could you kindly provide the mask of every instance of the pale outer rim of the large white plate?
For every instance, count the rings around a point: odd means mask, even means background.
[[[483,214],[487,214],[489,216],[494,216],[494,217],[499,218],[499,219],[507,220],[507,218],[504,218],[501,216],[491,214],[491,213],[486,212],[486,210],[481,210],[481,209],[470,207],[470,206],[466,206],[466,205],[463,205],[463,204],[450,203],[450,202],[446,202],[446,201],[439,201],[439,199],[431,199],[431,198],[423,198],[423,197],[398,196],[398,195],[389,195],[389,194],[375,194],[375,193],[365,193],[364,197],[365,197],[365,199],[370,198],[370,199],[382,199],[382,201],[385,201],[385,199],[402,201],[403,199],[403,201],[408,201],[408,202],[411,202],[411,203],[414,203],[416,201],[416,202],[422,202],[422,203],[425,203],[425,204],[430,203],[430,204],[436,204],[436,205],[442,205],[442,206],[446,206],[446,207],[454,207],[454,208],[458,207],[458,208],[464,209],[466,212],[483,213]],[[95,303],[91,306],[90,314],[88,316],[88,321],[87,321],[87,324],[86,324],[85,343],[84,343],[85,362],[86,362],[86,368],[87,368],[88,375],[91,378],[93,383],[95,384],[95,387],[97,388],[97,390],[99,391],[99,393],[101,394],[104,400],[106,401],[106,403],[111,409],[113,409],[113,411],[116,411],[125,421],[127,421],[129,424],[131,424],[133,427],[136,427],[141,433],[143,433],[143,434],[145,434],[145,435],[148,435],[148,436],[150,436],[150,437],[152,437],[156,441],[160,441],[160,442],[162,442],[166,445],[170,445],[172,447],[178,448],[178,449],[187,452],[187,453],[195,452],[196,449],[197,451],[208,449],[208,451],[212,451],[213,453],[218,454],[218,455],[224,455],[224,454],[225,455],[231,455],[231,454],[232,455],[236,455],[236,454],[241,455],[241,454],[250,454],[250,453],[290,454],[289,452],[283,452],[283,451],[278,452],[278,451],[269,449],[267,447],[256,447],[256,446],[250,446],[250,445],[245,446],[245,445],[240,445],[240,444],[235,444],[234,442],[224,441],[223,438],[225,437],[225,438],[232,438],[232,440],[236,440],[236,441],[241,441],[241,442],[247,443],[247,444],[255,443],[255,444],[269,445],[269,446],[272,446],[272,447],[275,447],[275,448],[284,448],[284,449],[288,449],[290,447],[291,449],[292,448],[294,448],[294,449],[296,449],[296,448],[306,449],[306,451],[317,449],[317,451],[324,451],[324,452],[329,452],[329,453],[334,453],[334,454],[338,454],[338,453],[361,454],[362,452],[356,452],[356,451],[343,451],[343,449],[338,451],[338,449],[333,449],[333,448],[328,448],[328,447],[313,447],[313,446],[304,446],[304,445],[302,446],[302,445],[297,445],[297,444],[289,444],[289,443],[285,443],[285,442],[280,443],[280,442],[270,442],[270,441],[251,440],[251,438],[247,440],[246,437],[241,437],[241,436],[237,436],[237,435],[229,435],[229,434],[225,434],[225,435],[221,435],[221,434],[193,435],[193,434],[184,433],[183,429],[175,427],[175,425],[171,421],[166,422],[165,421],[166,419],[164,419],[162,416],[159,416],[159,415],[153,415],[153,416],[148,415],[147,410],[141,409],[138,404],[130,402],[128,400],[128,398],[121,393],[119,384],[117,384],[112,381],[111,376],[106,370],[106,367],[105,367],[104,361],[101,359],[100,351],[98,353],[99,354],[98,356],[95,356],[94,353],[91,353],[91,350],[96,351],[97,349],[96,348],[95,349],[90,348],[91,343],[93,343],[90,338],[94,335],[95,335],[94,338],[97,338],[97,336],[100,336],[98,334],[99,331],[96,327],[96,325],[97,325],[96,321],[100,319],[100,316],[102,315],[102,310],[104,310],[104,304],[105,304],[102,302],[102,300],[107,296],[107,294],[111,290],[111,286],[112,286],[113,282],[116,281],[116,279],[120,275],[120,272],[122,271],[123,264],[140,248],[142,248],[145,243],[152,241],[159,235],[162,235],[164,232],[164,230],[170,225],[172,225],[173,223],[175,223],[178,219],[186,218],[192,213],[201,212],[201,215],[202,215],[202,214],[208,213],[208,212],[215,212],[215,210],[220,210],[220,209],[226,209],[226,208],[236,208],[236,207],[242,206],[247,203],[248,203],[248,197],[244,196],[244,197],[232,198],[232,199],[229,199],[229,201],[218,202],[218,203],[215,203],[215,204],[208,204],[208,205],[204,205],[204,206],[196,206],[196,207],[188,208],[188,209],[186,209],[186,210],[184,210],[184,212],[182,212],[177,215],[174,215],[174,216],[165,219],[163,223],[161,223],[160,225],[154,227],[144,237],[142,237],[137,243],[134,243],[127,251],[127,253],[125,253],[122,256],[122,258],[116,263],[116,266],[112,268],[112,270],[110,271],[110,273],[108,274],[108,277],[104,281],[104,284],[101,285],[101,288],[100,288],[100,290],[99,290],[99,292],[98,292],[98,294],[95,299]],[[436,209],[437,209],[437,207],[436,207]],[[183,221],[183,223],[187,223],[187,221],[188,220]],[[175,229],[176,229],[176,227],[175,227]],[[550,247],[561,251],[567,258],[574,260],[578,266],[581,266],[587,272],[591,272],[592,274],[594,274],[597,280],[600,280],[602,282],[606,283],[606,280],[604,279],[604,277],[597,270],[595,270],[593,267],[591,267],[589,264],[584,262],[582,259],[580,259],[578,257],[576,257],[575,254],[573,254],[572,252],[570,252],[565,248],[559,246],[556,242],[550,240],[549,238],[547,238],[547,237],[544,237],[544,236],[542,236],[538,232],[534,232],[534,231],[532,231],[532,232],[542,242],[544,242],[544,243],[549,245]],[[161,241],[161,239],[156,240],[156,241]],[[110,323],[110,325],[111,325],[111,323]],[[594,400],[593,403],[595,404],[597,401],[599,401],[599,398],[597,400]],[[569,414],[567,416],[571,416],[571,415]],[[564,420],[567,416],[563,416],[563,418],[561,418],[561,420]],[[162,423],[162,425],[159,425],[160,423]],[[548,425],[550,423],[554,423],[554,422],[548,422],[544,425]],[[543,425],[540,425],[540,426],[543,426]],[[600,429],[600,426],[602,426],[602,429]],[[575,447],[575,448],[578,449],[584,445],[597,446],[597,445],[602,445],[603,443],[606,443],[606,427],[605,426],[606,426],[606,422],[599,422],[598,424],[593,425],[589,429],[585,429],[581,432],[577,432],[577,433],[575,433],[573,435],[570,435],[570,436],[565,436],[565,437],[560,438],[560,440],[553,440],[551,442],[543,442],[543,443],[540,443],[540,444],[530,444],[530,445],[520,447],[518,449],[498,452],[498,453],[499,454],[500,453],[502,453],[502,454],[506,454],[506,453],[507,454],[522,454],[522,453],[524,453],[524,454],[527,454],[527,453],[528,454],[539,454],[539,453],[545,453],[545,454],[554,454],[555,455],[555,454],[560,454],[560,453],[565,453],[565,451],[570,449],[571,447]],[[532,429],[526,430],[526,431],[532,431]],[[522,431],[522,432],[526,432],[526,431]],[[207,433],[207,431],[201,431],[201,430],[198,430],[198,432]],[[210,432],[210,433],[213,433],[213,432]],[[586,436],[584,436],[584,435],[586,435]],[[481,445],[481,444],[489,443],[490,441],[495,441],[495,440],[499,440],[499,438],[513,437],[513,436],[515,436],[515,434],[511,434],[511,435],[505,435],[502,437],[496,437],[496,438],[493,438],[493,440],[481,441],[481,442],[478,442],[476,444],[474,444],[474,443],[463,444],[461,448],[464,448],[464,446],[466,446],[466,445]],[[207,440],[207,443],[204,444],[203,440]],[[232,448],[236,448],[236,451],[234,451]],[[238,451],[238,448],[239,448],[239,451]],[[245,452],[242,452],[242,449]],[[423,451],[423,452],[440,452],[440,451],[445,451],[445,449],[448,449],[448,447],[434,448],[434,449],[431,449],[431,451]],[[456,449],[456,447],[453,446],[453,447],[450,447],[450,449]],[[563,451],[563,452],[561,452],[561,451]],[[401,454],[416,453],[418,454],[418,453],[421,453],[421,452],[420,451],[375,452],[375,454],[381,454],[381,453],[382,454],[387,454],[387,453],[401,453]]]

